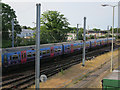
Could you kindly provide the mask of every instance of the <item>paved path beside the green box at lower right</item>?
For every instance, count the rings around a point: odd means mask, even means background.
[[[118,63],[118,57],[114,58],[113,63],[114,67],[116,67]],[[100,82],[103,77],[110,73],[110,65],[110,62],[104,64],[100,69],[89,74],[86,78],[78,81],[77,84],[70,86],[69,88],[101,88],[102,83],[100,84]]]

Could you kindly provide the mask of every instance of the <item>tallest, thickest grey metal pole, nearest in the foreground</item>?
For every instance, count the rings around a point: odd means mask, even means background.
[[[40,77],[40,11],[41,4],[36,4],[36,58],[35,58],[35,88],[39,90]]]

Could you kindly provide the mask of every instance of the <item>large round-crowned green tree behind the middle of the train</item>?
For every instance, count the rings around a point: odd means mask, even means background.
[[[58,11],[45,11],[42,14],[41,24],[46,28],[54,42],[66,41],[68,20]]]

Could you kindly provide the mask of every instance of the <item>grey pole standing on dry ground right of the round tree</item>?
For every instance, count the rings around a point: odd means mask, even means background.
[[[86,17],[84,17],[84,37],[83,37],[83,63],[82,66],[85,66],[85,44],[86,44]]]

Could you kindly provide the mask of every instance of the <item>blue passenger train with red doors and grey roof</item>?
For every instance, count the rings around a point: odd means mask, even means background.
[[[115,41],[115,38],[113,39]],[[86,41],[86,50],[110,45],[112,38],[91,39]],[[82,51],[83,41],[51,43],[40,45],[40,59],[45,60],[61,55]],[[35,61],[35,45],[2,49],[2,67],[25,64]]]

